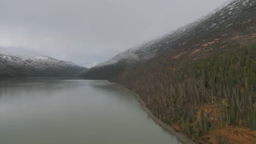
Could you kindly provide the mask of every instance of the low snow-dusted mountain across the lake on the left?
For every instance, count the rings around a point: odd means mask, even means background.
[[[0,77],[73,76],[86,68],[47,56],[0,54]]]

